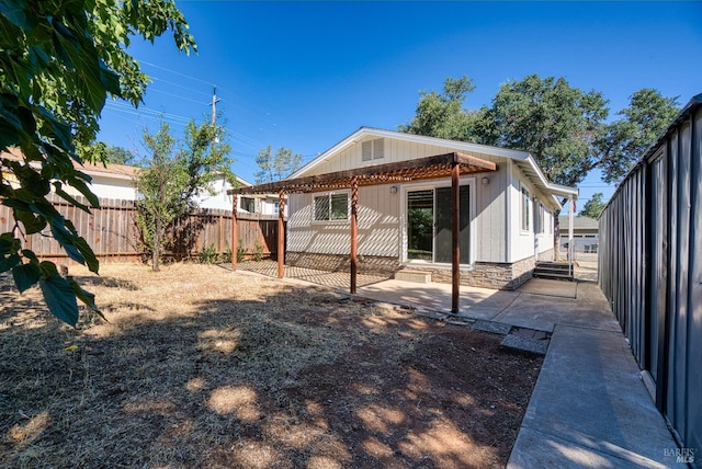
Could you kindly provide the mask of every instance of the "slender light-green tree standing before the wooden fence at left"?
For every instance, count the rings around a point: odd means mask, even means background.
[[[210,123],[197,126],[190,122],[180,145],[165,122],[154,135],[145,130],[143,138],[149,155],[137,174],[137,225],[151,254],[151,268],[158,271],[169,230],[192,211],[193,197],[210,190],[217,174],[234,182],[227,158],[230,146],[224,127]]]

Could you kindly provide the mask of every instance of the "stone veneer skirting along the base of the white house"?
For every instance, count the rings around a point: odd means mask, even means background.
[[[306,268],[321,271],[349,271],[348,255],[318,254],[309,252],[287,252],[285,263]],[[472,270],[461,270],[461,285],[495,289],[513,290],[532,277],[536,258],[526,258],[513,263],[476,262]],[[438,283],[451,283],[451,267],[423,267],[415,265],[400,265],[396,258],[382,258],[371,255],[359,256],[359,273],[367,275],[392,276],[398,270],[414,270],[431,272],[431,281]]]

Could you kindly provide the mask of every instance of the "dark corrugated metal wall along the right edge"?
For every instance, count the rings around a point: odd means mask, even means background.
[[[599,261],[656,405],[702,467],[702,94],[612,196]]]

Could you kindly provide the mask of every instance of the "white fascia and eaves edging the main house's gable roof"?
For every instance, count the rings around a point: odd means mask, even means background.
[[[427,137],[423,135],[405,134],[401,131],[383,130],[373,127],[361,127],[337,145],[305,164],[303,168],[293,173],[288,179],[296,179],[308,174],[315,167],[325,162],[337,152],[343,150],[350,145],[359,142],[365,136],[393,138],[396,140],[412,141],[424,145],[434,145],[440,147],[453,148],[457,151],[466,151],[469,153],[487,153],[496,157],[508,158],[529,178],[529,180],[543,193],[553,196],[554,201],[561,207],[558,197],[578,198],[578,190],[567,187],[561,184],[548,182],[536,161],[528,151],[511,150],[509,148],[491,147],[487,145],[471,144],[467,141],[449,140],[444,138]]]

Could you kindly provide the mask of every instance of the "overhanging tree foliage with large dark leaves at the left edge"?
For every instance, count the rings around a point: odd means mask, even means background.
[[[77,298],[98,310],[93,295],[22,249],[46,228],[68,256],[98,272],[93,251],[46,199],[49,190],[89,211],[69,185],[98,207],[90,178],[75,169],[77,147],[94,139],[107,96],[137,105],[148,82],[126,48],[132,37],[154,42],[171,31],[177,46],[195,48],[171,0],[0,0],[0,151],[19,148],[24,164],[2,159],[16,184],[0,175],[0,198],[12,208],[12,231],[0,234],[0,273],[12,271],[20,293],[39,284],[50,312],[75,325]]]

